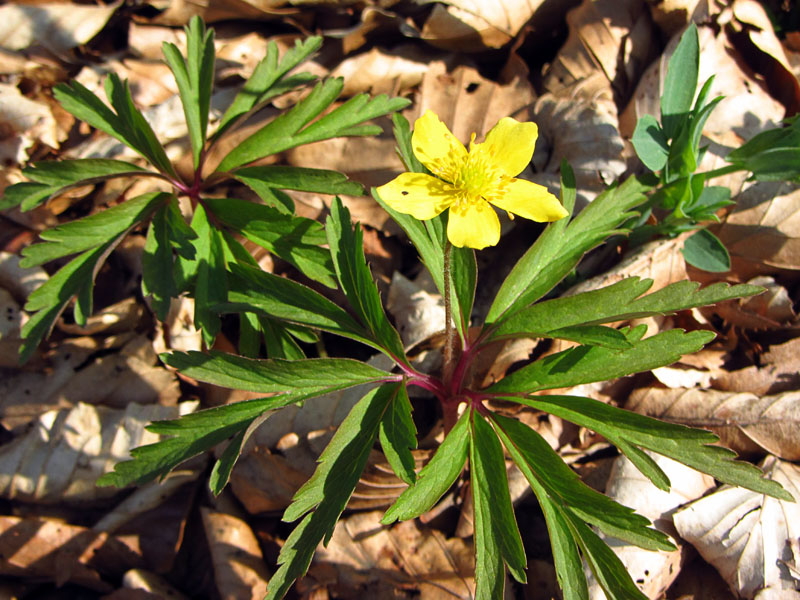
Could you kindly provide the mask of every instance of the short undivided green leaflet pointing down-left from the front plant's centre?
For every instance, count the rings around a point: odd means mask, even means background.
[[[394,521],[407,521],[430,510],[439,498],[450,489],[461,474],[469,451],[469,411],[456,422],[430,462],[417,475],[414,485],[408,487],[381,519],[386,525]]]

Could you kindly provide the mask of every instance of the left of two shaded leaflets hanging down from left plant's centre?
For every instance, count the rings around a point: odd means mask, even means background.
[[[142,295],[151,297],[150,305],[161,321],[167,319],[170,300],[178,293],[166,216],[169,207],[169,204],[164,204],[153,215],[142,254]]]

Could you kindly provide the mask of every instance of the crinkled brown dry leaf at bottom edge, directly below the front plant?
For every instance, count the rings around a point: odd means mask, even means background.
[[[414,520],[387,527],[380,523],[382,516],[382,511],[372,511],[340,520],[330,543],[318,548],[308,576],[299,585],[324,581],[321,576],[335,569],[333,585],[345,598],[473,597],[471,544],[445,539]]]

